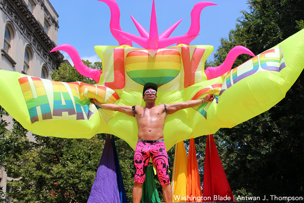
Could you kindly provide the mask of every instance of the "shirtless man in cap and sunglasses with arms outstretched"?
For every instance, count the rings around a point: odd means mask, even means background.
[[[102,104],[91,99],[91,103],[100,108],[119,111],[129,116],[134,116],[138,126],[138,142],[134,154],[135,180],[133,186],[133,202],[141,200],[142,184],[145,178],[145,171],[150,157],[156,167],[157,174],[163,187],[165,202],[172,202],[172,188],[168,174],[168,156],[164,143],[164,125],[167,114],[173,114],[178,110],[191,108],[205,102],[213,101],[214,95],[198,100],[188,100],[182,103],[155,105],[157,99],[157,85],[146,83],[143,88],[143,99],[145,107],[124,106],[115,104]]]

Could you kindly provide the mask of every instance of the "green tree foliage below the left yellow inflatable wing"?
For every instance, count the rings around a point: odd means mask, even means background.
[[[29,142],[15,122],[6,139],[15,145],[7,148],[3,165],[10,176],[9,195],[18,202],[85,202],[93,184],[104,141],[60,139],[34,136]],[[20,177],[20,178],[19,178]]]

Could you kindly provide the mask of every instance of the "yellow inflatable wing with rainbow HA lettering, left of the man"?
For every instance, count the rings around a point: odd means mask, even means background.
[[[0,87],[0,105],[41,136],[91,138],[101,126],[106,129],[112,115],[90,105],[90,98],[112,104],[119,99],[115,91],[101,85],[56,82],[3,70]]]

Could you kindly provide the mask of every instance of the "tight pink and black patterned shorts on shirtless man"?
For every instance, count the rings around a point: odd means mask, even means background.
[[[134,182],[143,184],[150,157],[155,165],[161,185],[169,184],[168,155],[164,140],[138,140],[134,154]]]

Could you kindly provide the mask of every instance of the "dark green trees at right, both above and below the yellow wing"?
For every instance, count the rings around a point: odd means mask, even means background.
[[[303,26],[303,1],[250,0],[229,39],[221,39],[213,66],[237,45],[259,54]],[[250,57],[241,55],[235,66]],[[214,136],[234,194],[241,196],[304,196],[304,74],[275,107]],[[216,141],[216,142],[217,142]]]

